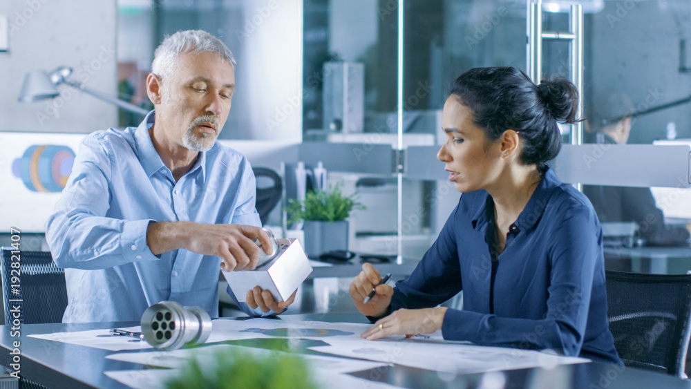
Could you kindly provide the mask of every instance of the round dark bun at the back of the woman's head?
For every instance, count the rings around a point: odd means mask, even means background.
[[[558,122],[576,123],[578,89],[564,77],[543,79],[538,85],[538,97],[545,110]]]

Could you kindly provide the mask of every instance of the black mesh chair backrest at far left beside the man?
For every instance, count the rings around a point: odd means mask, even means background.
[[[50,252],[0,249],[5,323],[60,323],[67,307],[65,271]],[[19,317],[17,317],[19,316]]]

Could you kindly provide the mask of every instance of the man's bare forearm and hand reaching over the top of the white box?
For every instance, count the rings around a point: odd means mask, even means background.
[[[208,225],[195,222],[155,222],[146,230],[146,244],[154,255],[175,249],[186,249],[202,255],[218,256],[221,269],[252,270],[260,249],[252,241],[258,239],[267,254],[272,254],[271,240],[261,227],[251,225]]]

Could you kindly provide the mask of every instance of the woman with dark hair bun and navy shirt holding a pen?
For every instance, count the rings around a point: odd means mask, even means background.
[[[363,265],[350,285],[357,309],[375,321],[363,337],[442,330],[448,340],[621,363],[607,324],[600,223],[546,164],[561,148],[556,123],[576,122],[577,104],[567,80],[536,86],[515,68],[455,80],[437,158],[463,194],[395,288],[377,286],[379,272]],[[464,310],[437,307],[460,290]]]

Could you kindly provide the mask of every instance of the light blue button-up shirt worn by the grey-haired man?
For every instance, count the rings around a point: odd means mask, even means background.
[[[151,142],[153,122],[152,111],[138,127],[84,137],[46,222],[55,263],[66,267],[66,323],[139,321],[160,301],[218,317],[220,259],[184,249],[154,256],[146,228],[152,221],[261,226],[254,174],[242,154],[216,142],[176,182]]]

